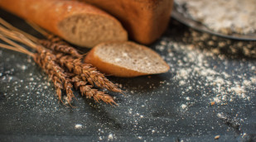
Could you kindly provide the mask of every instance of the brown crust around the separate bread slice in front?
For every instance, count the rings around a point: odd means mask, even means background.
[[[119,43],[124,43],[124,42],[119,42]],[[134,44],[133,42],[125,42],[126,44]],[[114,75],[116,77],[123,77],[123,78],[132,78],[132,77],[138,77],[142,75],[147,75],[147,74],[152,74],[152,73],[143,73],[143,72],[138,72],[133,69],[128,69],[124,68],[121,66],[118,66],[116,64],[109,63],[108,60],[103,60],[100,59],[97,54],[95,54],[95,50],[98,50],[101,46],[104,46],[105,44],[109,43],[103,43],[95,46],[92,50],[89,51],[89,53],[85,57],[85,63],[93,64],[94,67],[99,69],[102,73],[106,73],[109,75]],[[137,45],[138,46],[138,45]],[[141,46],[144,50],[151,50],[151,49],[145,49],[146,47]],[[152,54],[157,54],[154,51],[152,51]],[[158,54],[157,54],[158,55]],[[170,66],[167,63],[164,63],[165,66],[167,67],[166,70],[162,70],[162,73],[166,73],[169,69]]]

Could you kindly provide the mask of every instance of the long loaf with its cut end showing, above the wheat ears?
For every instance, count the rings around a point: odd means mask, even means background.
[[[128,40],[118,20],[85,2],[0,0],[0,7],[75,45],[93,47],[106,41]]]

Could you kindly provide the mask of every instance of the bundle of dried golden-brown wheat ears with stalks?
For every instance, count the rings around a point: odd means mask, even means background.
[[[0,39],[6,43],[0,43],[0,47],[30,55],[51,78],[60,102],[63,102],[62,98],[65,96],[66,102],[72,106],[71,101],[75,98],[72,88],[75,87],[75,89],[80,90],[82,96],[93,98],[96,102],[101,100],[110,105],[117,105],[113,97],[94,87],[105,88],[111,92],[123,93],[123,91],[105,78],[103,73],[99,73],[91,64],[83,63],[81,60],[84,54],[80,54],[78,50],[64,40],[51,35],[35,24],[31,24],[31,26],[46,36],[46,40],[27,34],[2,18],[0,18],[0,23]],[[27,45],[36,52],[27,50],[13,40]],[[63,91],[65,93],[62,93]]]

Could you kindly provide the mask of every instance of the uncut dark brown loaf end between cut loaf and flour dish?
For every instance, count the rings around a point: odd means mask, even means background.
[[[104,9],[122,22],[128,35],[151,44],[167,29],[173,0],[80,0]]]

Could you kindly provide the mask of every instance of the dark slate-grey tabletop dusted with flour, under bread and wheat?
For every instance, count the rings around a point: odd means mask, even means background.
[[[39,36],[7,12],[0,10],[0,17]],[[192,50],[187,49],[190,45]],[[166,33],[149,45],[171,66],[168,73],[109,76],[126,91],[125,96],[109,92],[118,106],[96,103],[75,92],[76,108],[58,102],[53,84],[30,57],[0,49],[0,141],[217,141],[216,135],[218,141],[254,141],[255,45],[255,41],[210,36],[171,19]],[[207,75],[194,67],[215,70],[208,74],[212,78],[225,78],[223,73],[228,73],[225,79],[231,84],[223,83],[216,91]],[[181,76],[182,69],[188,74]],[[250,81],[242,93],[245,97],[229,91],[244,80]],[[216,96],[228,99],[218,102]]]

